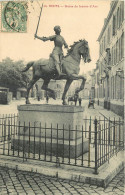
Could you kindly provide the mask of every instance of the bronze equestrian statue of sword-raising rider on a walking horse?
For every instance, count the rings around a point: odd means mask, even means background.
[[[43,7],[43,6],[42,6]],[[41,8],[42,12],[42,8]],[[41,16],[40,12],[40,16]],[[38,25],[40,22],[40,17],[38,20]],[[40,39],[42,41],[53,41],[54,49],[52,54],[50,54],[49,59],[40,59],[38,61],[31,61],[27,64],[27,66],[22,70],[22,72],[26,72],[30,67],[33,68],[33,78],[29,82],[27,87],[26,94],[26,104],[30,104],[29,102],[29,92],[33,85],[40,79],[43,79],[42,89],[46,90],[51,94],[53,99],[56,99],[56,95],[54,90],[48,87],[48,84],[51,79],[53,80],[66,80],[66,84],[64,87],[64,92],[62,95],[63,105],[66,105],[66,93],[73,82],[73,80],[81,79],[81,86],[79,89],[75,91],[75,94],[84,89],[86,79],[82,75],[78,75],[80,71],[80,60],[83,58],[85,63],[89,63],[91,61],[88,42],[84,40],[79,40],[74,42],[73,45],[68,48],[68,45],[65,39],[60,35],[61,28],[60,26],[55,26],[54,31],[55,35],[50,37],[39,37],[37,36],[38,25],[35,33],[35,38]],[[67,49],[67,55],[63,56],[62,47]]]

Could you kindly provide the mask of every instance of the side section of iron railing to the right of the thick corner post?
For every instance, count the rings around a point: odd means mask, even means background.
[[[124,148],[124,126],[123,121],[119,119],[116,121],[105,120],[101,124],[100,121],[96,122],[95,134],[97,147],[97,168],[103,165],[105,162],[109,162],[109,159],[114,155],[117,155],[119,151]]]

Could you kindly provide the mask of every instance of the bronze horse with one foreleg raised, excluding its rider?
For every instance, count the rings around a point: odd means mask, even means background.
[[[31,66],[33,67],[33,78],[29,82],[27,87],[27,95],[26,95],[26,104],[30,104],[29,102],[29,92],[32,86],[42,78],[44,80],[42,89],[51,93],[51,97],[55,99],[54,90],[48,88],[48,84],[51,79],[54,80],[67,80],[64,88],[64,92],[62,95],[63,105],[66,105],[66,93],[72,83],[73,80],[81,79],[82,83],[79,89],[76,90],[76,94],[78,94],[81,90],[84,89],[86,79],[78,75],[80,71],[80,60],[81,57],[84,59],[84,62],[90,62],[90,54],[89,54],[89,46],[86,40],[79,40],[74,42],[67,53],[67,55],[61,61],[62,74],[59,78],[56,77],[56,69],[54,65],[54,60],[50,56],[50,59],[40,59],[38,61],[32,61],[27,64],[23,72],[27,71]]]

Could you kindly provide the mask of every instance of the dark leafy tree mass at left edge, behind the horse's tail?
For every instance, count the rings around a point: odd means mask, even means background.
[[[31,73],[21,72],[24,68],[24,61],[13,61],[6,58],[0,62],[0,86],[7,87],[14,92],[19,87],[27,88]]]

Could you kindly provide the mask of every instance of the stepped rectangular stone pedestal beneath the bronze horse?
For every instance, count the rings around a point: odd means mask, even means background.
[[[19,135],[12,146],[23,150],[25,139],[25,152],[78,157],[88,151],[88,140],[82,137],[83,111],[67,105],[20,105]]]

